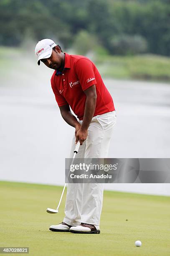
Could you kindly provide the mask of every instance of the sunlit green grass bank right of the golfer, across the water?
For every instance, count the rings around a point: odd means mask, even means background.
[[[101,56],[96,65],[104,77],[170,82],[170,58],[164,56]]]

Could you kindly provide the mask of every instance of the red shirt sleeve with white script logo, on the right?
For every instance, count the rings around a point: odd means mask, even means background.
[[[76,62],[74,70],[83,90],[96,84],[94,68],[93,63],[89,59],[82,58]]]

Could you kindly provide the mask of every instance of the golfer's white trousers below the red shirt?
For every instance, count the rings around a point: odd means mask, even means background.
[[[79,123],[82,122],[79,120]],[[86,141],[80,146],[76,158],[107,158],[115,124],[115,111],[93,117]],[[74,155],[75,140],[74,136],[70,158]],[[74,226],[80,223],[99,225],[103,188],[104,184],[101,183],[69,183],[63,222]]]

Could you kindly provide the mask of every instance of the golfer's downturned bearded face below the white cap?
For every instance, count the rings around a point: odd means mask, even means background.
[[[52,50],[52,54],[48,59],[41,59],[41,61],[50,69],[61,69],[63,66],[61,50],[56,46],[55,50]]]

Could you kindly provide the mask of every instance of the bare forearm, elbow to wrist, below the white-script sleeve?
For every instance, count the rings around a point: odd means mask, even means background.
[[[91,123],[91,119],[94,115],[94,111],[96,108],[96,97],[86,97],[86,104],[84,110],[84,118],[81,125],[82,130],[87,130],[89,124]]]

